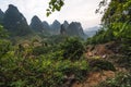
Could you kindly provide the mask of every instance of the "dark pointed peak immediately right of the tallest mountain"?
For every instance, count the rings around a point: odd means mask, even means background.
[[[37,33],[45,33],[46,29],[44,28],[43,22],[38,18],[38,16],[34,16],[31,22],[31,28]]]

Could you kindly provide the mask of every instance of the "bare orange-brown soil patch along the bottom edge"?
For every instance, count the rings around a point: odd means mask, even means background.
[[[74,83],[72,87],[94,87],[109,77],[111,78],[115,77],[115,72],[112,71],[94,72],[86,77],[84,83]]]

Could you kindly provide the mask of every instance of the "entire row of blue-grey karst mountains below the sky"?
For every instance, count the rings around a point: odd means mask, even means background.
[[[84,33],[83,27],[79,22],[68,23],[68,21],[64,21],[61,24],[59,21],[55,20],[53,23],[49,25],[48,22],[40,21],[37,15],[33,16],[32,22],[28,25],[24,15],[13,4],[10,4],[5,12],[0,10],[0,24],[3,25],[13,37],[40,33],[45,35],[66,35],[85,38],[94,35],[96,32],[95,29],[91,33]]]

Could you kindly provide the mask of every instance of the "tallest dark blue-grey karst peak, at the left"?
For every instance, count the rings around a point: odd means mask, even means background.
[[[10,4],[4,13],[3,26],[11,36],[25,36],[32,33],[26,18],[13,4]]]

